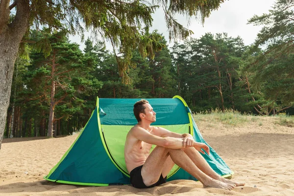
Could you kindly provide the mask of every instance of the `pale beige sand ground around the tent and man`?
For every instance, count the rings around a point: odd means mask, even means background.
[[[200,182],[175,180],[150,189],[130,185],[88,187],[43,179],[77,135],[61,138],[4,139],[0,150],[0,196],[294,196],[294,127],[270,117],[238,126],[211,120],[198,127],[231,170],[246,185],[232,191],[202,188]]]

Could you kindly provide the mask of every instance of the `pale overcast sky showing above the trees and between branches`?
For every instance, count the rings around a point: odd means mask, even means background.
[[[250,45],[254,42],[261,26],[247,25],[247,21],[254,14],[268,13],[274,2],[275,0],[225,0],[218,10],[212,11],[210,17],[205,20],[204,26],[195,18],[191,18],[191,23],[188,26],[194,32],[191,37],[199,38],[206,32],[213,34],[227,32],[228,36],[237,37],[239,35],[244,40],[245,45]],[[176,19],[180,24],[187,27],[185,16],[177,16]],[[168,40],[163,10],[158,9],[153,14],[153,20],[151,30],[158,29],[158,32],[163,33]],[[90,33],[85,34],[85,38],[87,37],[90,37]],[[78,36],[70,36],[70,40],[84,49],[85,45],[81,43]],[[174,40],[168,43],[169,47],[173,45],[173,42]],[[106,44],[106,46],[111,50],[110,44]]]

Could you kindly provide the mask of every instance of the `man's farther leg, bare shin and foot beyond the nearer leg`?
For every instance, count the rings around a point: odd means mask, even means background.
[[[236,186],[244,186],[244,182],[236,182],[229,179],[225,179],[221,177],[217,172],[215,172],[207,161],[203,158],[203,156],[194,148],[194,147],[186,147],[182,148],[182,150],[189,156],[189,158],[193,161],[193,163],[206,175],[212,177],[213,179],[219,180],[221,182],[235,184]]]

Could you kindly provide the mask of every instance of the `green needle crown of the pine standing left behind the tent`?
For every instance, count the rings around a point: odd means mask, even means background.
[[[28,105],[46,113],[50,104],[56,104],[55,119],[66,120],[82,110],[85,96],[95,95],[102,85],[89,74],[96,65],[89,63],[89,57],[82,54],[78,45],[68,42],[64,32],[56,32],[48,40],[51,52],[47,58],[39,49],[31,53],[31,65],[25,76],[26,88],[22,93],[29,96],[25,101]],[[52,81],[55,83],[53,103],[50,102]]]

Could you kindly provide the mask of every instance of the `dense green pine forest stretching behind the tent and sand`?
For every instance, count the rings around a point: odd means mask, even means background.
[[[30,30],[29,42],[15,61],[4,138],[79,131],[97,96],[179,95],[193,112],[217,108],[294,115],[294,13],[288,3],[279,0],[269,14],[248,21],[264,26],[253,45],[245,46],[241,37],[224,32],[189,38],[170,48],[154,31],[150,35],[156,37],[156,50],[142,55],[142,47],[133,49],[123,71],[122,54],[107,50],[104,41],[88,38],[81,50],[69,41],[67,31]]]

